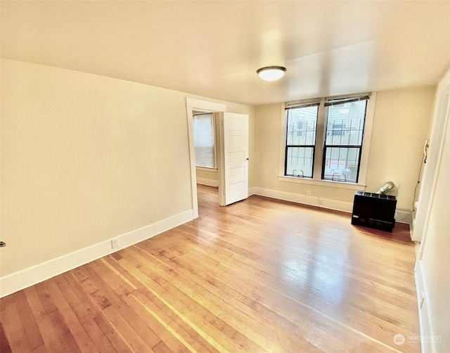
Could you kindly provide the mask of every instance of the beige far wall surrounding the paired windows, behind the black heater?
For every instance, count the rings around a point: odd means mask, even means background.
[[[434,94],[434,86],[377,93],[366,191],[396,181],[399,209],[412,208]],[[352,203],[353,190],[278,181],[283,115],[281,103],[255,107],[255,186]]]

